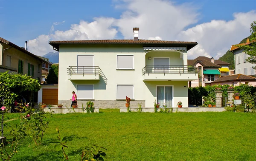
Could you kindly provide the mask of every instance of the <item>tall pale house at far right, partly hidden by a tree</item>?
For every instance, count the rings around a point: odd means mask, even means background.
[[[250,43],[247,38],[245,43],[237,45],[250,45]],[[255,64],[246,61],[248,55],[244,53],[244,49],[240,49],[236,45],[231,45],[230,51],[233,52],[235,57],[235,74],[244,74],[247,76],[256,74],[256,70],[253,69]]]

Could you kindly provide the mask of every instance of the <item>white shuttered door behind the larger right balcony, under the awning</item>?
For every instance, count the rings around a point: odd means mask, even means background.
[[[169,58],[154,58],[154,72],[169,72]]]

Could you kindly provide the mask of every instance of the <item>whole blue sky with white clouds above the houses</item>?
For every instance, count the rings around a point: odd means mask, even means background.
[[[133,39],[139,27],[139,39],[198,42],[189,59],[218,59],[255,20],[256,0],[0,1],[0,37],[38,56],[51,40]]]

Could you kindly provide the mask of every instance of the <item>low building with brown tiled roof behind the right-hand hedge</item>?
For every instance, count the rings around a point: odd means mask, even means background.
[[[256,78],[252,76],[246,76],[243,74],[236,74],[232,76],[223,76],[212,82],[212,85],[233,85],[240,84],[256,85]]]

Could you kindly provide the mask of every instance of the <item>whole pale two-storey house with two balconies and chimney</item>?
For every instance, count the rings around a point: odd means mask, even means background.
[[[139,40],[50,41],[59,51],[58,103],[70,106],[72,91],[78,105],[91,100],[95,107],[188,107],[187,82],[198,79],[187,66],[187,51],[197,42]]]

